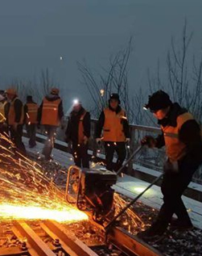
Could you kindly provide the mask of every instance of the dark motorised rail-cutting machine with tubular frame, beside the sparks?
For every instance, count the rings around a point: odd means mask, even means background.
[[[117,174],[101,169],[80,169],[70,166],[66,184],[66,200],[81,211],[89,212],[93,220],[101,222],[114,215],[112,186]]]

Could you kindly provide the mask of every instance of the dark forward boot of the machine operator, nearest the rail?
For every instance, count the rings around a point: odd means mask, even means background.
[[[156,221],[149,229],[139,232],[137,236],[144,241],[159,241],[163,238],[163,233],[166,230],[166,225],[159,225],[159,222]]]

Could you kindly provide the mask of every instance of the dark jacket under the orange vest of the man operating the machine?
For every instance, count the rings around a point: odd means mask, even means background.
[[[178,103],[171,105],[171,110],[168,112],[167,117],[159,120],[159,124],[163,127],[171,125],[176,127],[177,117],[183,113],[188,112],[185,108],[180,107]],[[200,164],[202,162],[202,139],[200,125],[196,120],[188,120],[179,130],[179,141],[186,145],[186,155],[179,159],[180,162],[187,162],[188,164]],[[156,147],[161,148],[165,145],[163,133],[156,138]]]

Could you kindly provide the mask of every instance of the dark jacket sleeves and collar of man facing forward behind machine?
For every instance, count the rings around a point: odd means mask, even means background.
[[[116,111],[116,113],[119,113],[120,111],[122,111],[122,107],[117,106],[116,110],[113,110],[110,105],[109,105],[109,109],[111,111]],[[129,128],[129,124],[128,124],[128,120],[122,120],[122,124],[123,124],[123,132],[126,136],[126,138],[130,138],[130,128]],[[95,131],[95,136],[96,138],[100,138],[101,137],[101,131],[102,128],[105,124],[105,113],[104,111],[101,111],[101,115],[99,117],[99,120],[97,121],[97,126],[96,126],[96,131]]]

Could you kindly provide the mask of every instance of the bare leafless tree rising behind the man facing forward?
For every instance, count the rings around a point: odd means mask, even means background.
[[[114,57],[109,58],[109,69],[102,68],[102,73],[97,76],[99,81],[85,61],[83,63],[78,62],[78,68],[85,86],[87,86],[93,99],[93,115],[95,117],[107,106],[109,94],[117,93],[129,120],[132,121],[134,119],[128,86],[128,63],[132,51],[132,40],[131,37],[125,49],[120,50]]]

